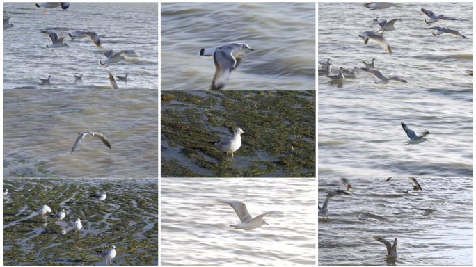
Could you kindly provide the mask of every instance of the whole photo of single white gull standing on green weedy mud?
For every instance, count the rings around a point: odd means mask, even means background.
[[[161,91],[161,177],[315,177],[315,91]]]

